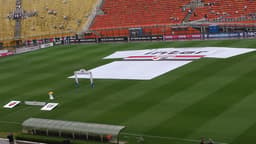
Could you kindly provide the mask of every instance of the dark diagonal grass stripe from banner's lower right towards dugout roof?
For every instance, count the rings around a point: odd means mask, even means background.
[[[175,93],[182,91],[183,89],[186,89],[187,87],[190,87],[191,85],[203,80],[201,77],[197,77],[196,75],[199,73],[199,71],[201,71],[201,69],[205,69],[211,63],[212,61],[208,61],[208,63],[206,62],[203,66],[199,68],[197,67],[197,69],[187,70],[187,73],[172,81],[169,81],[168,77],[165,77],[165,80],[162,80],[161,82],[154,80],[157,85],[155,83],[154,87],[149,89],[143,95],[139,95],[136,99],[122,103],[122,105],[106,111],[104,114],[100,115],[100,117],[95,119],[102,119],[105,117],[105,121],[111,121],[110,116],[118,115],[118,117],[115,117],[115,121],[121,123],[128,120],[129,118],[135,117],[150,107],[157,105],[161,101],[165,101],[165,99],[171,97]],[[193,80],[189,81],[188,79],[190,78],[193,78]],[[130,91],[131,92],[128,93],[127,96],[137,93],[136,89],[131,89]],[[129,106],[132,107],[127,109]]]

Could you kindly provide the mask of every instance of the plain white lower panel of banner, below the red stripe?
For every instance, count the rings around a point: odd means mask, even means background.
[[[191,61],[116,61],[90,70],[94,79],[150,80]],[[71,76],[69,78],[74,78]],[[89,78],[78,75],[78,78]]]

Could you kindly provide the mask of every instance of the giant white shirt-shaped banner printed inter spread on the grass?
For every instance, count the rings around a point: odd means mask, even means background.
[[[248,48],[204,47],[204,48],[160,48],[118,51],[104,59],[123,58],[92,70],[95,79],[150,80],[171,70],[203,57],[230,58],[255,51]],[[127,61],[128,60],[128,61]],[[175,61],[171,61],[175,60]],[[69,78],[74,78],[71,76]],[[78,78],[89,78],[78,75]]]

